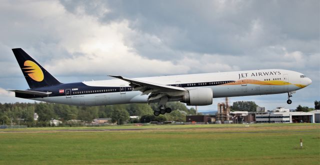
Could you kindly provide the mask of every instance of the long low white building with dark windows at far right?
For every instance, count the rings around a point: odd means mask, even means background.
[[[294,122],[311,122],[314,123],[314,114],[310,112],[264,112],[256,113],[255,121],[260,122],[284,122],[284,123],[294,123]]]

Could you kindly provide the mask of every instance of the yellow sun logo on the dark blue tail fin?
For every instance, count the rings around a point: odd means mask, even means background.
[[[34,63],[33,61],[30,61],[30,60],[26,60],[26,61],[24,61],[23,65],[27,66],[22,69],[26,69],[24,72],[28,73],[29,77],[31,77],[33,80],[38,81],[38,82],[43,80],[43,78],[44,78],[43,72],[42,72],[41,68],[36,63]]]

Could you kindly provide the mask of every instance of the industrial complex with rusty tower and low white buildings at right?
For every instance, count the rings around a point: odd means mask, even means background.
[[[296,122],[320,122],[320,110],[310,112],[290,111],[283,106],[272,110],[264,107],[256,107],[255,112],[231,111],[228,105],[228,98],[225,102],[217,104],[215,115],[186,115],[186,122],[192,123],[296,123]]]

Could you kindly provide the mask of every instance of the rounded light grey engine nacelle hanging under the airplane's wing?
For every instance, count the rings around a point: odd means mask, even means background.
[[[185,92],[182,102],[187,105],[211,105],[213,92],[211,88],[197,88]]]

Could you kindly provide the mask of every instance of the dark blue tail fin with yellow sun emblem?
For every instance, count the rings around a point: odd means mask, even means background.
[[[60,84],[38,62],[29,56],[22,48],[12,48],[13,54],[19,63],[22,73],[30,88]]]

